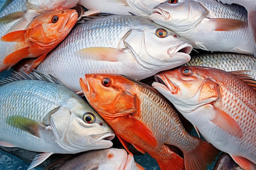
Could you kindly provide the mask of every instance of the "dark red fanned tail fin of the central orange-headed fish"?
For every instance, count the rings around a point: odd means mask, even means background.
[[[198,138],[199,139],[199,138]],[[186,170],[206,170],[207,164],[216,160],[219,150],[207,141],[199,139],[198,147],[183,152]]]

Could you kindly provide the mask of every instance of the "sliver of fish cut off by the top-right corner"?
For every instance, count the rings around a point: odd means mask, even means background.
[[[254,40],[254,57],[256,57],[256,4],[254,0],[218,0],[227,4],[239,4],[247,10],[249,29]]]

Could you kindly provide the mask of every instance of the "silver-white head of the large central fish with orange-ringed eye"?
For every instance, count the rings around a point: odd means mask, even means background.
[[[187,40],[153,22],[131,29],[121,41],[129,49],[140,69],[150,73],[158,73],[189,62],[189,53],[193,49]]]

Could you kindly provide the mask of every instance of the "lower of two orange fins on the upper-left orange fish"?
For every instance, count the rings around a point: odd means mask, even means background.
[[[3,63],[6,65],[11,65],[13,66],[14,64],[17,64],[20,60],[23,58],[26,58],[29,55],[29,46],[16,50],[13,53],[7,55]]]

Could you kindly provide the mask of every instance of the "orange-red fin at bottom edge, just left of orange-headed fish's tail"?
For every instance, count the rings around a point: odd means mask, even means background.
[[[177,154],[171,159],[156,159],[160,170],[185,170],[184,159]]]

